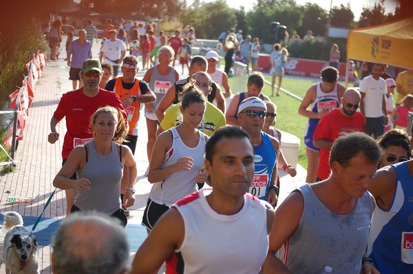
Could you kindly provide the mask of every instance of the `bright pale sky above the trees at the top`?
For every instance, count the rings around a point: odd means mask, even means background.
[[[213,1],[215,0],[204,0],[204,2],[213,2]],[[378,0],[330,0],[330,1],[332,1],[332,7],[334,6],[339,7],[340,4],[347,6],[347,3],[350,3],[350,8],[352,9],[352,12],[354,13],[354,20],[358,21],[363,7],[372,7],[374,6],[374,3],[376,3]],[[295,2],[300,6],[304,6],[307,2],[317,3],[321,8],[324,8],[325,10],[330,10],[330,1],[328,0],[321,0],[321,1],[295,0]],[[189,3],[191,3],[191,1],[189,1]],[[226,3],[228,3],[228,6],[230,6],[231,8],[239,8],[240,6],[244,6],[245,10],[248,11],[248,10],[251,10],[251,8],[253,8],[254,4],[256,3],[256,0],[226,0]],[[396,0],[385,0],[384,6],[385,6],[386,12],[394,12],[394,8],[396,8]]]

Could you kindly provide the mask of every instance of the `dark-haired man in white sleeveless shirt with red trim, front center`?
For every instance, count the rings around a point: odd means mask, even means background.
[[[204,187],[173,204],[153,226],[131,273],[260,273],[274,211],[246,193],[254,176],[254,151],[240,127],[215,131],[207,142]]]

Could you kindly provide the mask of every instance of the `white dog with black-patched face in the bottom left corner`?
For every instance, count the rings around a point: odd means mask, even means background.
[[[33,233],[23,226],[23,218],[17,212],[4,216],[3,263],[6,274],[39,274],[37,262],[37,241]]]

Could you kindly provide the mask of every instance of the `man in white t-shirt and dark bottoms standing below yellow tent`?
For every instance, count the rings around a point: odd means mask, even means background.
[[[384,133],[384,126],[388,123],[388,112],[385,107],[387,84],[381,78],[384,65],[375,63],[372,75],[366,76],[360,82],[361,103],[360,111],[366,119],[364,132],[379,138]]]

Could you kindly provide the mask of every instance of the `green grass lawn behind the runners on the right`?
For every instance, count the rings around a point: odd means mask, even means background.
[[[265,77],[266,81],[271,83],[271,76]],[[278,79],[276,79],[277,83]],[[229,78],[230,85],[233,84],[233,78]],[[284,77],[282,79],[281,87],[288,90],[300,98],[304,98],[309,87],[319,83],[317,78],[289,78]],[[343,83],[341,83],[343,85]],[[276,88],[274,94],[276,93]],[[286,131],[290,134],[297,136],[301,143],[298,149],[298,162],[299,165],[307,168],[306,147],[304,146],[304,130],[306,129],[306,123],[308,118],[298,114],[298,107],[301,101],[288,96],[284,92],[280,92],[281,96],[271,97],[271,85],[264,85],[262,93],[271,98],[271,101],[277,105],[277,123],[275,127],[282,131]]]

